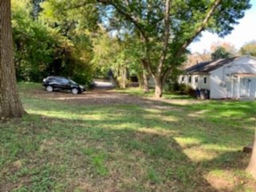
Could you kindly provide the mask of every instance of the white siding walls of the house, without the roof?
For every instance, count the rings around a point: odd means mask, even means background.
[[[238,59],[227,63],[220,68],[210,71],[208,74],[185,74],[178,78],[179,83],[190,85],[193,89],[210,90],[210,98],[239,98],[255,97],[256,98],[256,77],[245,78],[236,74],[255,74],[256,59],[250,56],[242,56]],[[184,76],[184,81],[182,77]],[[191,76],[191,83],[189,83]],[[198,83],[195,82],[198,77]],[[207,83],[204,83],[204,77]],[[245,85],[249,89],[245,90]]]

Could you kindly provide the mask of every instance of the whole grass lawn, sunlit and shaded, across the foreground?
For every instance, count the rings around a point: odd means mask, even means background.
[[[241,151],[254,137],[256,102],[157,102],[129,89],[117,92],[145,103],[82,104],[41,89],[20,84],[28,115],[0,122],[1,192],[256,191]]]

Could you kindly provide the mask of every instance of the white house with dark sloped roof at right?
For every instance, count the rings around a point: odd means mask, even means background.
[[[185,70],[179,83],[210,90],[210,98],[256,98],[256,58],[251,56],[198,63]]]

